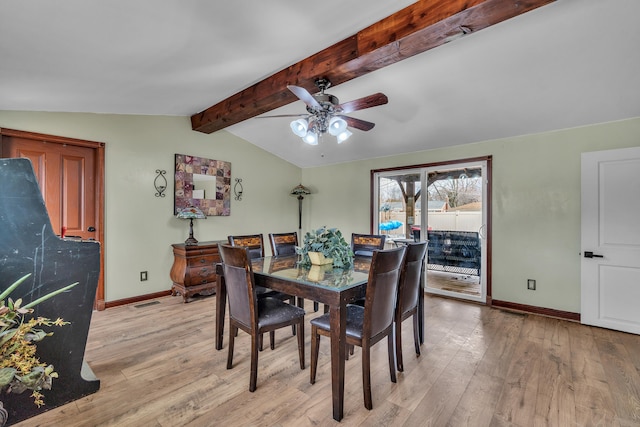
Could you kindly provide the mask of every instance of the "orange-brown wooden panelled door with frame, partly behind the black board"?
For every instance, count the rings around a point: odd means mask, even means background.
[[[51,227],[66,237],[102,243],[104,271],[103,163],[104,144],[71,138],[0,129],[2,157],[31,160],[42,192]],[[104,308],[103,273],[100,274],[97,308]]]

